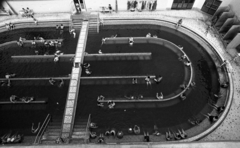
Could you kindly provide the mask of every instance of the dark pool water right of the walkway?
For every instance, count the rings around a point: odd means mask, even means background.
[[[170,50],[154,44],[128,45],[101,45],[103,37],[118,34],[121,37],[143,37],[147,33],[157,35],[176,45],[182,45],[184,52],[190,57],[194,68],[194,81],[196,86],[188,94],[187,99],[176,105],[153,109],[113,109],[104,110],[96,105],[96,98],[102,94],[106,97],[118,97],[124,94],[143,94],[155,96],[156,92],[171,93],[181,84],[183,66],[178,57]],[[101,49],[104,53],[125,52],[152,52],[150,61],[98,61],[91,62],[94,76],[111,75],[148,75],[162,74],[163,82],[147,88],[146,85],[81,85],[79,90],[77,116],[92,115],[92,121],[99,125],[97,132],[104,132],[108,128],[117,128],[126,131],[135,124],[143,129],[153,130],[156,124],[161,132],[167,128],[188,129],[191,127],[187,120],[191,117],[203,119],[200,113],[210,111],[207,101],[212,93],[218,91],[218,75],[216,67],[203,47],[184,34],[154,25],[124,25],[104,26],[100,34],[90,35],[87,40],[86,52],[97,53]],[[85,76],[83,74],[83,76]]]

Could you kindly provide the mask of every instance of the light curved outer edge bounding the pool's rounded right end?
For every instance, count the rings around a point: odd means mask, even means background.
[[[106,19],[106,18],[105,18]],[[107,20],[111,20],[111,18],[107,19]],[[169,21],[169,20],[161,20],[161,19],[157,19],[157,18],[138,18],[138,19],[124,19],[124,18],[121,18],[121,19],[113,19],[115,22],[110,22],[109,25],[114,25],[116,23],[116,21],[124,21],[124,20],[127,20],[128,22],[124,22],[124,23],[118,23],[118,25],[123,25],[123,24],[136,24],[136,21],[138,22],[137,24],[151,24],[151,25],[160,25],[160,26],[165,26],[165,27],[169,27],[171,29],[175,29],[174,25],[176,24],[175,22],[173,21]],[[145,21],[144,21],[145,20]],[[147,21],[146,21],[147,20]],[[135,21],[135,22],[133,22]],[[108,23],[105,21],[105,24]],[[167,25],[170,25],[170,26],[167,26]],[[195,35],[196,37],[198,37],[198,39],[202,40],[203,42],[205,42],[207,45],[209,45],[212,49],[214,49],[214,51],[216,52],[218,58],[223,61],[224,58],[223,56],[221,55],[221,53],[216,50],[216,47],[214,47],[214,45],[211,43],[211,42],[208,42],[206,39],[204,39],[203,36],[201,36],[199,33],[197,33],[196,31],[194,31],[193,29],[191,29],[190,27],[186,26],[186,25],[182,25],[182,27],[180,27],[178,29],[178,31],[180,31],[181,33],[184,33],[186,34],[187,36],[189,36],[189,34],[193,34]],[[187,33],[186,33],[187,31]],[[194,38],[192,38],[194,39]],[[196,39],[194,39],[196,40]],[[197,41],[198,42],[198,41]],[[214,61],[215,62],[215,61]],[[228,64],[228,66],[231,66]],[[228,68],[228,67],[227,67]],[[231,67],[230,67],[231,68]],[[210,134],[211,132],[213,132],[217,127],[219,127],[221,125],[221,123],[224,121],[224,119],[227,117],[228,115],[228,112],[231,108],[231,104],[232,104],[232,101],[233,101],[233,78],[232,78],[232,75],[230,72],[227,72],[226,70],[224,71],[225,75],[227,75],[228,77],[228,80],[230,82],[230,87],[229,87],[229,93],[228,93],[228,97],[227,97],[227,103],[225,103],[225,110],[224,112],[221,114],[220,118],[217,120],[217,122],[215,122],[214,124],[211,125],[210,128],[208,128],[207,130],[205,130],[204,132],[201,132],[200,134],[196,135],[196,136],[193,136],[191,138],[188,138],[188,139],[184,139],[184,140],[178,140],[176,142],[192,142],[192,141],[196,141],[196,140],[199,140],[205,136],[207,136],[208,134]],[[227,73],[227,74],[226,74]],[[193,127],[194,128],[194,127]],[[173,141],[172,141],[173,142]],[[155,142],[155,143],[162,143],[162,142]]]

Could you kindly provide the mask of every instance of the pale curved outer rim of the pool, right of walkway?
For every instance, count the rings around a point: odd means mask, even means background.
[[[114,21],[112,21],[114,20]],[[116,23],[117,22],[117,23]],[[177,22],[177,21],[176,21]],[[124,24],[152,24],[152,25],[159,25],[159,26],[165,26],[165,27],[169,27],[172,29],[176,29],[175,25],[176,22],[174,22],[173,20],[161,20],[161,19],[156,19],[156,18],[150,18],[150,19],[146,19],[146,18],[137,18],[136,20],[130,18],[124,18],[124,19],[113,19],[113,18],[105,18],[104,19],[104,25],[124,25]],[[183,23],[182,27],[178,28],[178,31],[190,36],[192,39],[196,40],[197,42],[201,41],[204,44],[201,44],[202,46],[204,46],[205,49],[209,49],[211,51],[214,51],[217,56],[218,56],[218,60],[219,61],[215,61],[217,62],[217,64],[219,65],[219,63],[222,63],[224,58],[221,55],[221,53],[219,51],[217,51],[216,47],[214,47],[214,45],[210,42],[208,42],[206,39],[204,39],[204,37],[202,37],[200,35],[200,33],[196,32],[194,30],[194,28],[191,29],[191,26],[185,26],[185,24]],[[228,62],[229,63],[229,62]],[[210,134],[212,131],[214,131],[222,122],[223,120],[226,118],[232,101],[233,101],[233,79],[232,79],[232,75],[231,75],[231,65],[227,64],[227,67],[224,68],[224,73],[226,73],[226,76],[228,77],[227,79],[229,80],[229,91],[228,91],[228,97],[227,97],[227,101],[225,102],[225,110],[222,113],[222,115],[220,116],[220,118],[218,119],[217,122],[215,122],[210,128],[208,128],[207,130],[205,130],[204,132],[201,132],[200,134],[197,134],[191,138],[188,139],[184,139],[184,140],[179,140],[180,142],[191,142],[191,141],[196,141],[199,140],[203,137],[205,137],[206,135]],[[198,126],[199,127],[199,126]],[[194,127],[193,127],[194,128]],[[197,128],[197,127],[196,127]],[[177,142],[179,142],[177,141]]]

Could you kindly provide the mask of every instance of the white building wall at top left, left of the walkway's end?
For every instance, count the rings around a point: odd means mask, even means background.
[[[18,13],[22,8],[29,8],[34,13],[71,12],[72,0],[8,0]]]

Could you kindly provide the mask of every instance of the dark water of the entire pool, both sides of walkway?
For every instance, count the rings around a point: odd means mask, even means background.
[[[53,28],[50,30],[55,32]],[[170,94],[181,84],[182,77],[184,77],[183,65],[179,64],[176,54],[173,54],[167,48],[155,44],[146,44],[144,46],[135,44],[133,47],[129,47],[128,45],[104,45],[103,47],[100,47],[102,37],[110,37],[111,35],[115,34],[118,34],[118,36],[121,37],[143,37],[148,32],[151,34],[156,34],[158,37],[184,47],[184,52],[186,52],[193,63],[196,87],[191,90],[191,93],[187,96],[185,101],[165,108],[127,110],[103,110],[98,108],[96,106],[96,98],[100,94],[110,97],[123,96],[124,94],[143,94],[144,96],[155,97],[157,91],[160,90],[163,91],[164,94]],[[36,33],[36,35],[37,34],[38,33]],[[173,37],[173,34],[176,36]],[[19,37],[16,37],[16,39],[18,38]],[[70,42],[71,41],[69,41],[69,44]],[[189,42],[191,44],[189,44]],[[68,45],[68,43],[66,44],[64,42],[64,46],[66,45],[66,48],[63,48],[62,50],[66,53],[74,53],[76,47],[74,48],[71,46],[76,44],[77,43],[74,42],[73,44]],[[167,128],[176,130],[181,127],[187,130],[192,127],[187,123],[187,119],[191,118],[192,116],[203,119],[204,117],[199,113],[211,111],[211,108],[207,106],[208,98],[212,93],[218,92],[219,89],[216,67],[203,47],[186,35],[166,27],[154,25],[104,26],[104,28],[101,29],[100,34],[94,36],[89,35],[86,52],[97,53],[100,48],[104,53],[131,53],[150,51],[153,53],[153,56],[151,61],[90,62],[91,69],[93,70],[92,76],[161,74],[164,79],[158,86],[152,85],[152,88],[147,88],[145,84],[138,84],[134,87],[133,85],[81,85],[79,90],[80,95],[78,99],[76,117],[88,116],[89,114],[92,114],[92,121],[96,122],[100,127],[96,130],[98,134],[109,128],[116,128],[117,130],[122,130],[124,133],[127,133],[127,128],[133,127],[135,124],[149,132],[153,130],[154,124],[158,125],[159,131],[162,133],[164,133]],[[1,72],[2,77],[4,77],[5,73],[9,70],[20,71],[21,77],[65,76],[69,74],[72,67],[71,62],[59,63],[59,65],[53,63],[28,63],[26,65],[19,63],[12,65],[9,59],[10,55],[21,55],[22,53],[24,53],[24,55],[32,55],[33,51],[31,49],[25,50],[25,48],[22,48],[23,50],[20,48],[19,50],[19,47],[16,46],[12,48],[4,48],[4,50],[2,50],[2,48],[0,49],[1,56],[4,57],[3,59],[5,59],[1,61],[2,66],[5,67]],[[193,52],[192,49],[197,49],[197,52]],[[11,53],[6,53],[6,50],[9,52],[11,51]],[[7,64],[9,64],[9,67],[6,66]],[[86,75],[83,74],[82,76]],[[21,116],[21,118],[13,117],[16,115],[15,112],[16,110],[19,110],[19,108],[1,107],[1,110],[5,110],[4,114],[1,114],[1,117],[12,117],[3,123],[2,127],[6,127],[4,128],[4,131],[7,132],[10,129],[16,129],[20,131],[22,130],[23,132],[27,131],[26,133],[31,135],[30,127],[32,122],[36,124],[40,120],[43,121],[46,114],[49,112],[59,116],[63,115],[63,112],[60,112],[59,110],[63,111],[65,106],[67,88],[68,85],[61,89],[44,86],[28,87],[24,85],[22,87],[14,87],[14,89],[11,90],[7,88],[1,88],[1,92],[7,92],[4,93],[4,95],[1,93],[3,97],[10,96],[14,92],[19,95],[37,94],[37,96],[54,98],[54,100],[51,99],[51,101],[49,101],[48,105],[45,107],[29,107],[28,109],[25,109],[25,111],[19,112],[19,114],[17,114],[19,117],[20,115],[26,115]],[[31,90],[31,93],[29,93],[29,90]],[[59,100],[58,104],[56,104],[57,100]],[[36,111],[31,111],[31,113],[29,113],[30,110],[34,109]],[[6,113],[7,111],[9,114]],[[18,123],[18,121],[22,119],[24,119],[25,122],[12,125],[13,122]],[[24,128],[21,128],[21,126]]]

